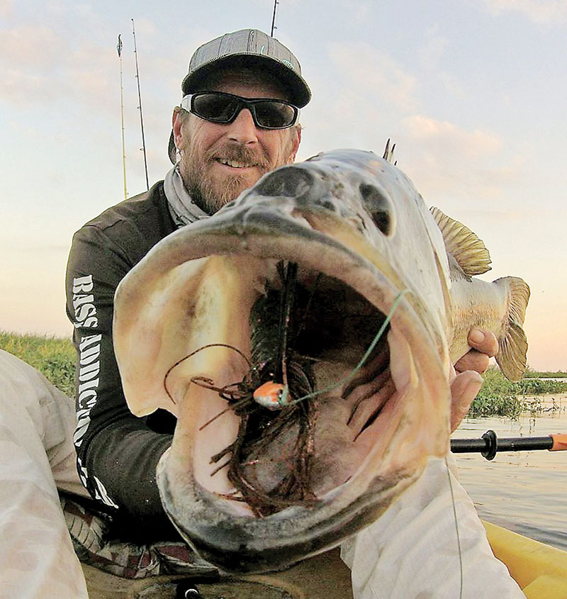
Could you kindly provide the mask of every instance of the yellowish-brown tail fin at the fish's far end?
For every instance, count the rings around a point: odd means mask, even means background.
[[[527,364],[527,339],[522,325],[529,301],[529,287],[517,276],[503,276],[494,283],[507,286],[510,294],[508,326],[505,336],[498,340],[498,354],[495,359],[507,379],[519,381]]]

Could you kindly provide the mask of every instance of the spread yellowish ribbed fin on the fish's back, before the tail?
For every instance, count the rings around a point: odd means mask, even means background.
[[[430,211],[441,229],[447,253],[456,259],[464,274],[473,276],[489,271],[492,260],[483,240],[463,223],[442,213],[439,208],[432,206]]]

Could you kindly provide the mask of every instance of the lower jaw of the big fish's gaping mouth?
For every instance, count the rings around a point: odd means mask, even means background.
[[[178,428],[186,434],[176,435],[160,460],[157,483],[170,519],[204,559],[228,572],[256,573],[283,569],[330,549],[376,520],[420,476],[427,456],[444,454],[444,388],[425,378],[423,364],[400,330],[388,332],[383,352],[389,354],[389,372],[379,383],[376,379],[385,371],[376,366],[383,359],[378,353],[361,371],[360,384],[345,383],[340,393],[322,394],[310,483],[315,497],[291,502],[271,515],[257,517],[252,505],[230,497],[235,489],[227,469],[213,474],[210,455],[237,436],[235,414],[229,411],[198,430],[199,423],[218,412],[210,407],[213,392],[195,388],[184,399]],[[321,362],[317,374],[321,383],[342,378],[336,364]],[[349,423],[353,403],[357,410]],[[353,432],[357,418],[359,430]],[[265,450],[267,477],[278,474],[273,464],[285,443],[277,441]]]

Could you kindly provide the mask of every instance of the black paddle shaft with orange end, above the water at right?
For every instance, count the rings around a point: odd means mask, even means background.
[[[501,437],[487,430],[480,439],[451,439],[451,452],[471,454],[481,452],[486,459],[494,459],[497,452],[527,452],[547,449],[549,452],[567,451],[567,433],[547,437]]]

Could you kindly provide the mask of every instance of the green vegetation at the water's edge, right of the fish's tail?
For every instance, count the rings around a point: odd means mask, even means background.
[[[547,373],[542,373],[547,374]],[[534,406],[524,401],[525,396],[537,396],[544,393],[566,393],[567,382],[546,381],[547,376],[532,379],[534,371],[528,370],[526,376],[517,383],[508,381],[498,366],[490,366],[484,374],[481,391],[468,410],[469,418],[481,416],[507,416],[518,418],[522,412],[534,410]],[[561,375],[559,375],[561,376]]]

